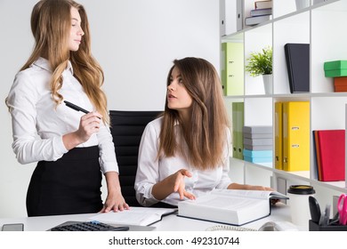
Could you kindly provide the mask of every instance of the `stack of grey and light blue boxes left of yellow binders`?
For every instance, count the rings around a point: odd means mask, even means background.
[[[259,165],[272,165],[272,126],[244,126],[243,137],[245,161]]]

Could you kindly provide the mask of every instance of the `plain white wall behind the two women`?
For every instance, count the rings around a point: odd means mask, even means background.
[[[26,216],[28,181],[36,164],[12,152],[4,99],[33,47],[29,19],[36,0],[0,0],[0,218]],[[93,54],[105,71],[109,109],[160,110],[173,59],[197,56],[220,67],[219,1],[80,0],[92,29]]]

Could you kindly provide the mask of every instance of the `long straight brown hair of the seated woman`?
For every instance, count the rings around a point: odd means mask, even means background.
[[[183,122],[178,111],[168,108],[167,98],[160,133],[159,154],[174,157],[181,151],[191,165],[198,169],[215,168],[222,163],[222,152],[227,142],[228,115],[222,97],[222,85],[214,66],[200,58],[173,60],[167,76],[167,85],[173,68],[180,70],[182,82],[192,98],[190,122]],[[174,133],[174,125],[182,129]],[[179,141],[185,144],[177,144]],[[188,149],[184,152],[184,148]]]

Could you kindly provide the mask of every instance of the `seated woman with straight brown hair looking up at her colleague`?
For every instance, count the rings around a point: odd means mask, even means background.
[[[270,189],[230,181],[230,130],[214,66],[199,58],[174,60],[166,85],[164,114],[142,134],[139,203],[177,205],[213,189]]]

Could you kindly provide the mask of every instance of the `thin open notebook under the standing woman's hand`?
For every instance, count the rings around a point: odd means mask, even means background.
[[[129,210],[109,213],[98,213],[90,220],[109,224],[149,226],[162,217],[177,212],[176,208],[138,207],[132,206]]]

